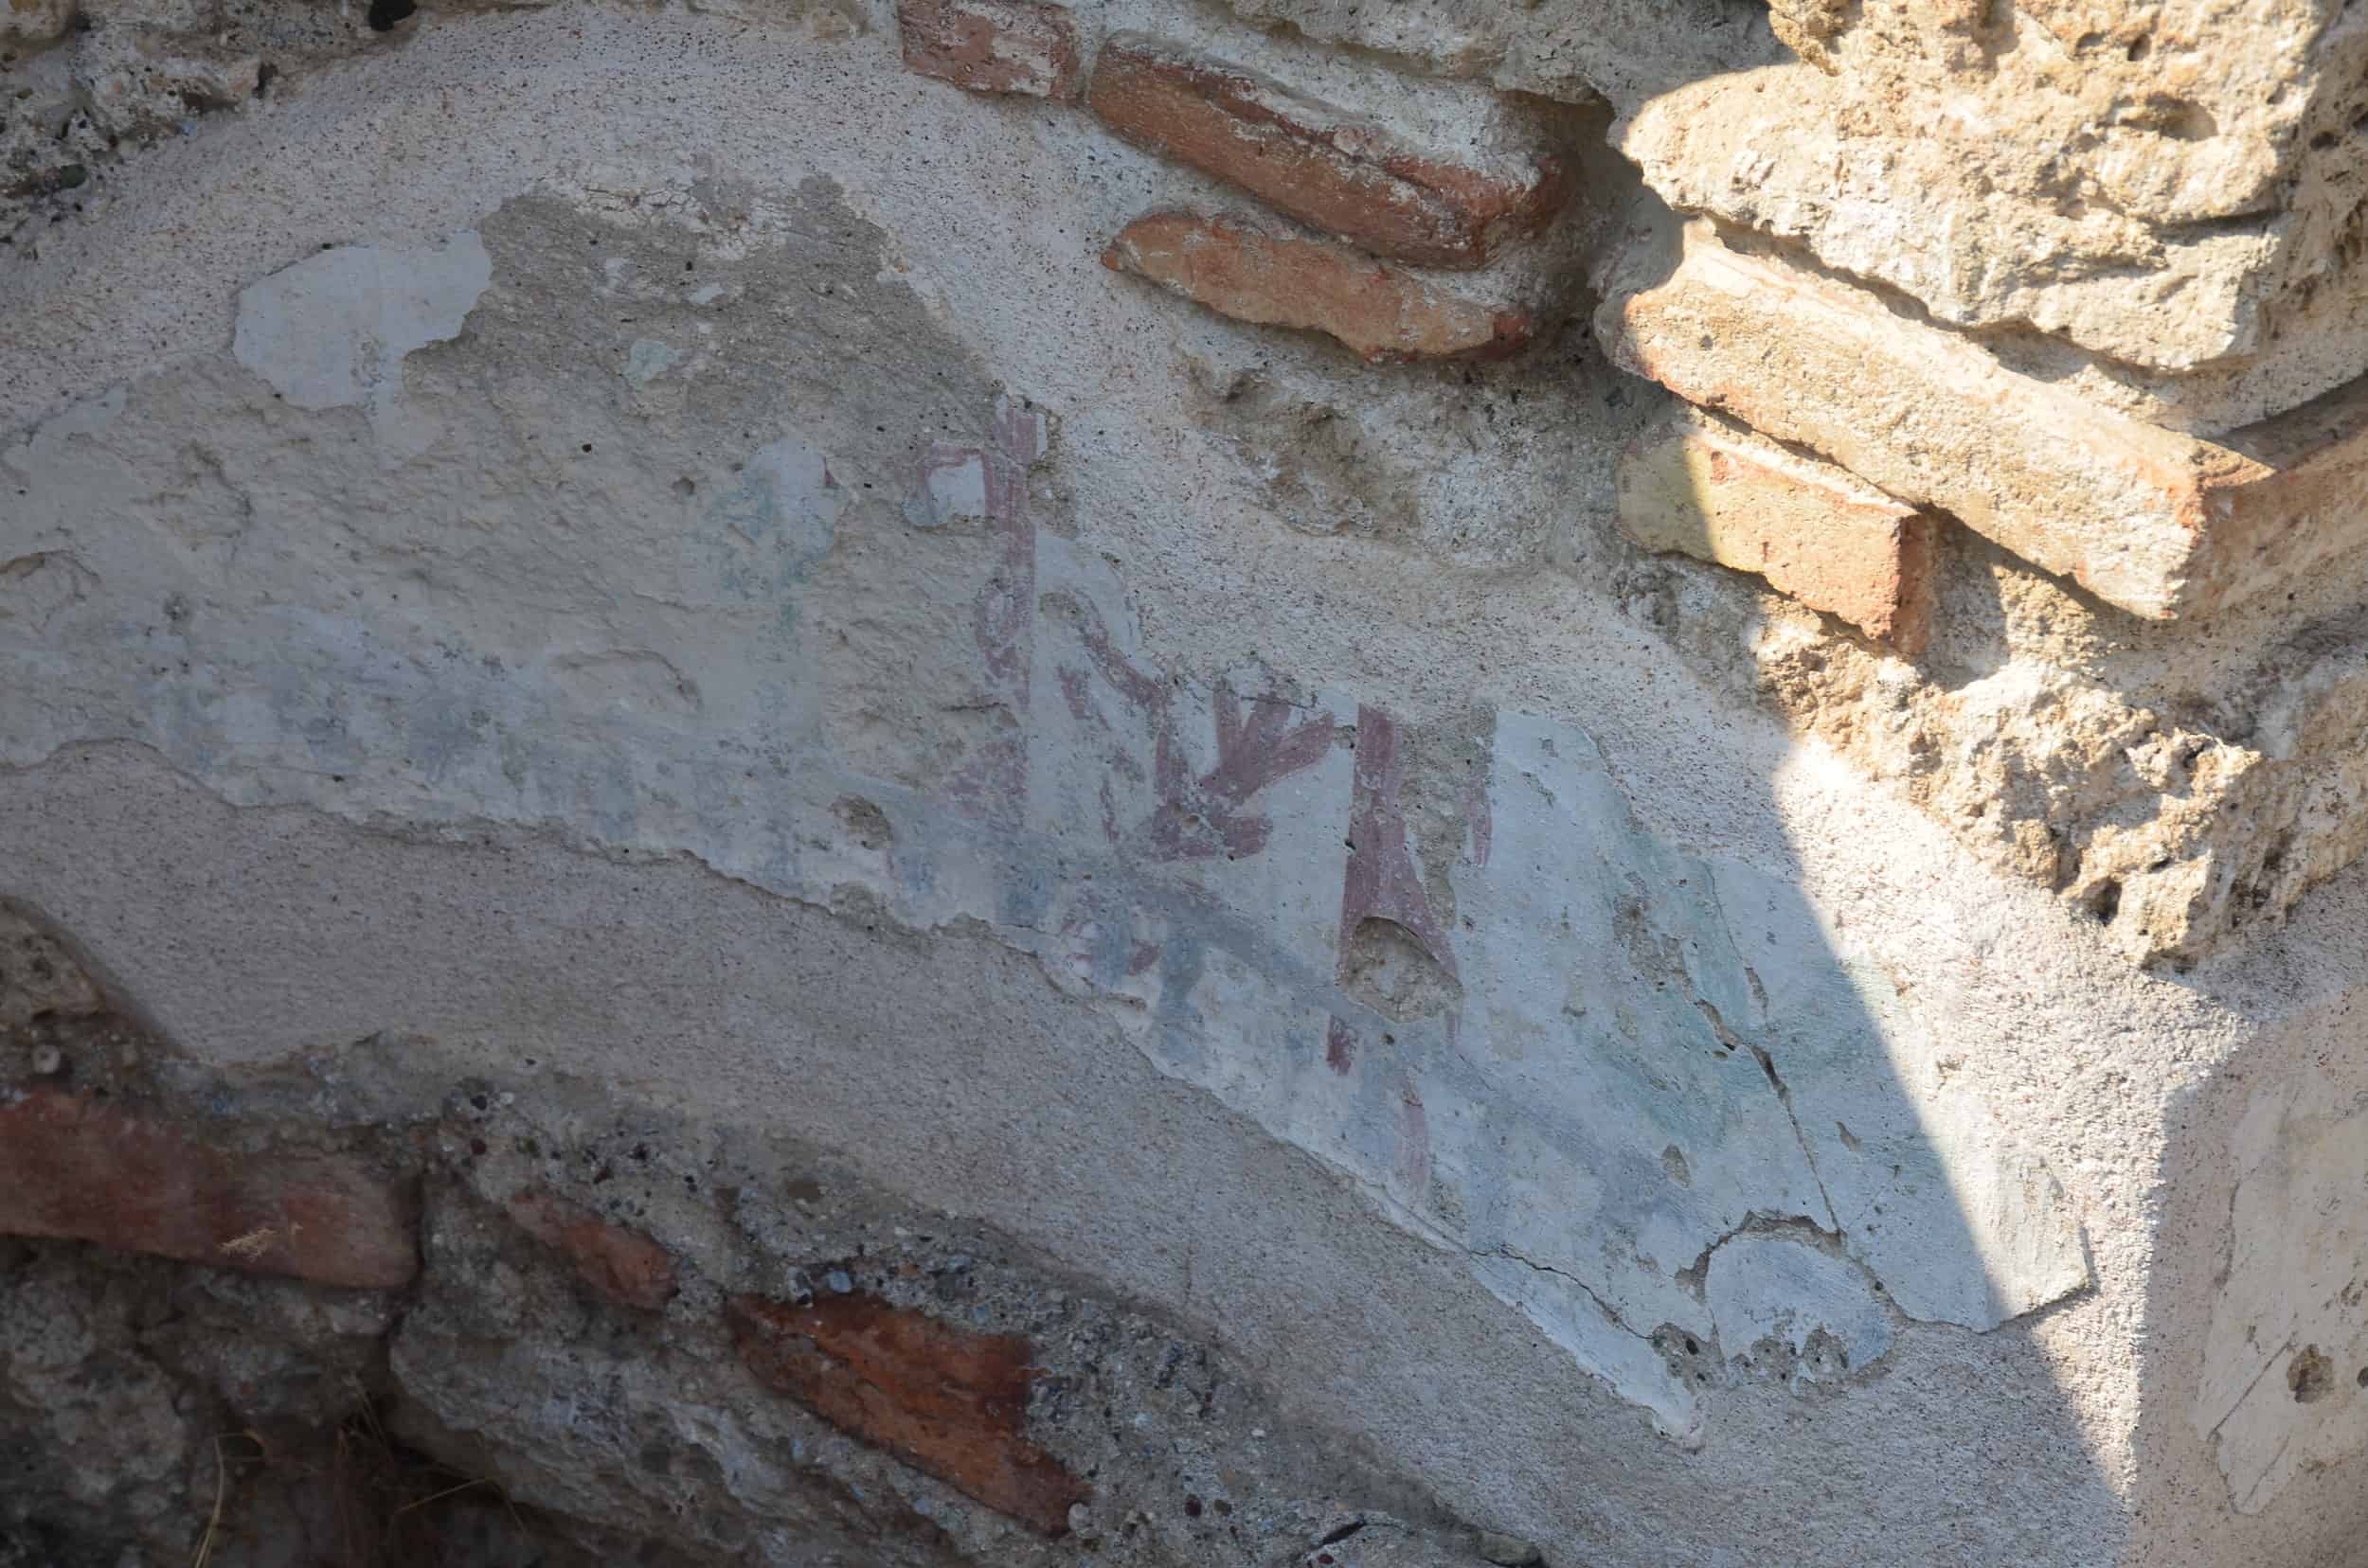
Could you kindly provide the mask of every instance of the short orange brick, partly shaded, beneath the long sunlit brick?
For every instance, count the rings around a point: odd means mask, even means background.
[[[1902,654],[1932,625],[1930,516],[1710,415],[1674,415],[1627,448],[1620,528],[1759,573]]]

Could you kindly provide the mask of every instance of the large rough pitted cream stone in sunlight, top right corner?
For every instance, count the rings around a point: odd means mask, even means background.
[[[2359,234],[2368,24],[2342,9],[1783,0],[1802,59],[1665,92],[1622,149],[1672,206],[1949,324],[2169,372],[2311,358],[2280,320]]]

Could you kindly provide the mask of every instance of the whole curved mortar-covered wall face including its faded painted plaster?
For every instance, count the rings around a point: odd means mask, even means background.
[[[611,144],[583,149],[587,123]],[[429,126],[462,168],[388,178],[374,149]],[[1345,486],[1343,523],[1293,528],[1310,509],[1208,403],[1305,396],[1326,362],[1094,263],[1179,175],[914,83],[876,36],[471,19],[130,178],[156,199],[21,279],[19,417],[78,403],[9,450],[38,493],[7,552],[38,590],[12,599],[9,893],[189,1049],[277,1059],[400,1016],[490,1061],[542,1056],[535,1035],[651,1078],[680,1042],[654,1087],[815,1118],[921,1201],[1006,1194],[999,1225],[1222,1315],[1326,1419],[1501,1490],[1459,1511],[1565,1551],[1717,1561],[1717,1530],[1946,1559],[2008,1530],[2018,1561],[2311,1561],[2351,1523],[2335,1464],[2247,1514],[2193,1435],[2167,1438],[2181,1509],[2119,1502],[2145,1424],[2193,1402],[2131,1352],[2157,1293],[2200,1289],[2148,1227],[2171,1097],[2306,1030],[2316,990],[2257,985],[2266,959],[2214,990],[2129,973],[1722,703],[1584,573],[1534,571],[1613,559],[1579,540],[1650,412],[1584,351],[1373,379],[1395,417],[1307,481]],[[419,296],[358,327],[353,279],[388,261]],[[372,351],[303,360],[298,327]],[[1366,417],[1340,403],[1314,424]],[[1416,502],[1357,490],[1369,467]],[[528,881],[466,891],[521,855]],[[2354,964],[2309,931],[2314,962]],[[1684,1142],[1632,1151],[1563,1075],[1572,1042],[1641,1040],[1669,1066],[1610,1104]],[[1092,1094],[1047,1099],[1070,1080]],[[938,1087],[926,1113],[909,1082]],[[1570,1144],[1518,1120],[1542,1090]],[[1816,1099],[1849,1111],[1828,1130]],[[1014,1116],[1058,1137],[1011,1139]],[[1534,1163],[1471,1135],[1497,1118]],[[1160,1127],[1212,1132],[1111,1182]],[[947,1139],[1004,1163],[954,1172]],[[1918,1180],[1854,1165],[1871,1142]],[[1276,1220],[1274,1161],[1321,1177],[1321,1220]],[[1968,1168],[2013,1203],[1951,1220]],[[1248,1172],[1238,1222],[1215,1225],[1210,1172]],[[1215,1286],[1196,1248],[1175,1260],[1201,1225],[1231,1244]],[[1383,1251],[1279,1267],[1274,1234]],[[1892,1291],[1897,1317],[1826,1324],[1892,1348],[1840,1388],[1769,1388],[1729,1355],[1759,1338],[1660,1334],[1717,1326],[1717,1300],[1762,1322],[1764,1296],[1717,1286],[1736,1236]],[[1440,1364],[1485,1393],[1433,1397]],[[2015,1454],[1977,1480],[1968,1409]],[[1572,1450],[1617,1509],[1570,1518]],[[1471,1464],[1508,1452],[1520,1480]]]

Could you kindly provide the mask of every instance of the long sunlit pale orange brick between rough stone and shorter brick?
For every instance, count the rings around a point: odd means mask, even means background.
[[[2205,441],[2098,407],[1977,341],[1707,223],[1639,242],[1596,315],[1606,351],[1681,398],[1800,443],[2150,618],[2278,590],[2368,542],[2368,386]]]

